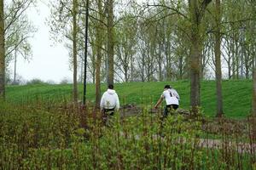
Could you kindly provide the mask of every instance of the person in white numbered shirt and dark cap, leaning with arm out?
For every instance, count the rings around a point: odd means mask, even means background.
[[[170,85],[165,86],[163,94],[161,94],[160,99],[158,100],[156,105],[154,105],[155,109],[157,109],[157,107],[161,104],[163,99],[166,99],[164,116],[167,116],[168,112],[171,110],[177,110],[179,104],[179,95],[177,94],[177,91],[174,88],[171,88]]]

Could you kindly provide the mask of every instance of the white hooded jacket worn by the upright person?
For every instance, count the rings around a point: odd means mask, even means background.
[[[113,89],[108,89],[107,92],[105,92],[102,95],[101,100],[101,109],[115,109],[119,110],[119,96],[115,93]]]

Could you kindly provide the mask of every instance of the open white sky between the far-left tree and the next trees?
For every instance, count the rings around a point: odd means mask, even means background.
[[[29,8],[27,15],[38,31],[31,38],[32,59],[28,62],[17,59],[17,74],[26,80],[40,78],[44,81],[60,82],[64,77],[72,79],[73,72],[69,70],[68,52],[62,44],[54,44],[49,39],[49,26],[46,19],[49,17],[49,8],[45,5],[49,0],[38,1],[38,8]],[[37,10],[38,9],[38,10]],[[13,72],[14,64],[9,65]],[[12,76],[13,78],[13,76]]]

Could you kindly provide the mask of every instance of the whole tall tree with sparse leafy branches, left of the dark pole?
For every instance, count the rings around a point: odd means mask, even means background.
[[[55,42],[62,42],[63,37],[72,42],[66,42],[66,47],[69,48],[72,56],[73,68],[73,104],[78,104],[78,54],[83,48],[79,46],[79,14],[80,1],[59,0],[51,2],[51,17],[49,26],[51,27],[51,36]],[[83,44],[81,44],[83,47]]]

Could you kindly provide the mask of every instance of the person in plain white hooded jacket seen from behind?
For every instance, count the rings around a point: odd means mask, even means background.
[[[102,95],[101,110],[113,116],[114,111],[119,111],[119,96],[113,90],[113,84],[108,85],[108,90]]]

